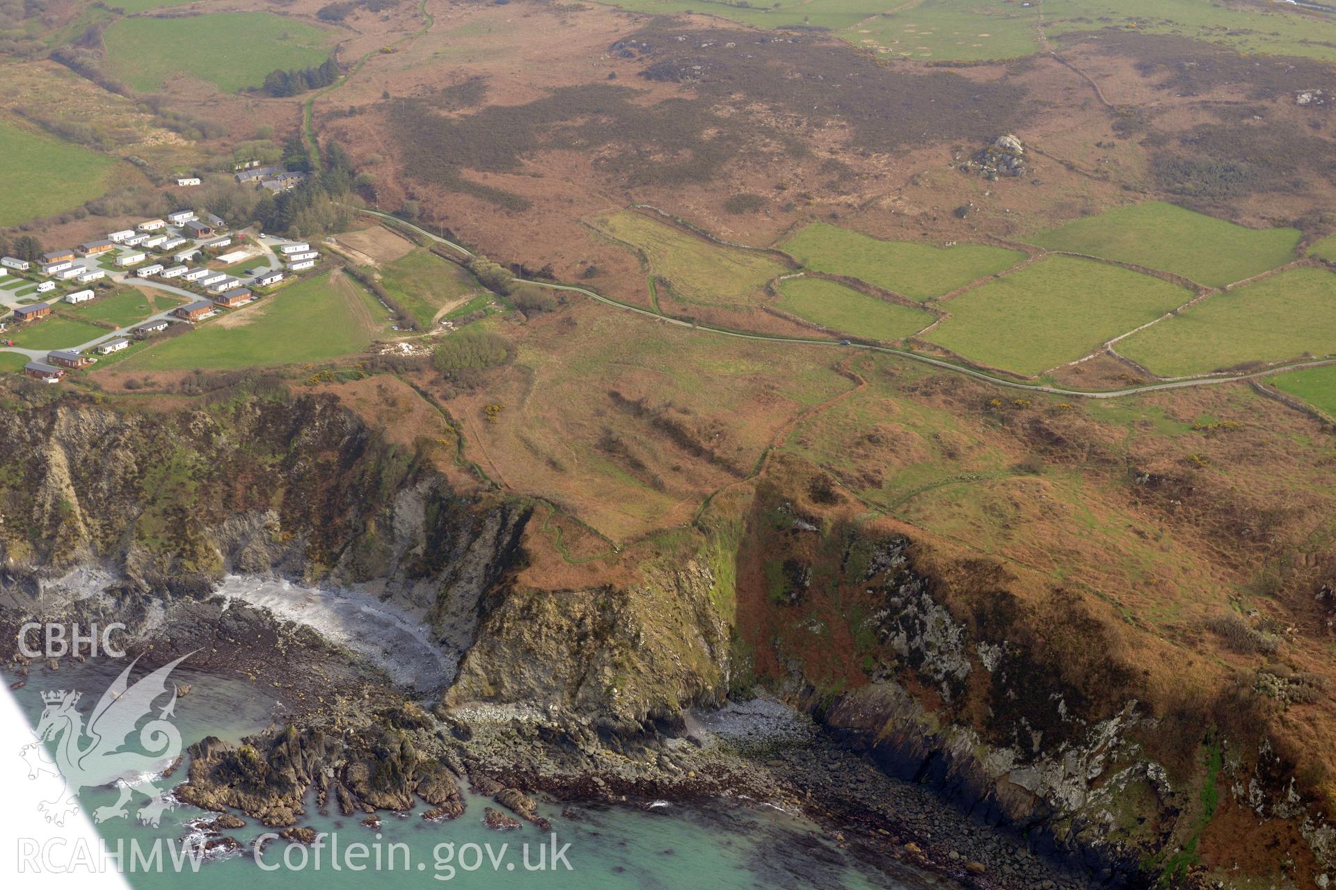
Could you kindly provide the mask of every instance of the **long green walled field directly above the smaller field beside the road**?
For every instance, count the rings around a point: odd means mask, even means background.
[[[807,226],[780,247],[814,270],[862,279],[914,300],[942,296],[1025,259],[1017,251],[983,244],[883,242],[826,223]]]

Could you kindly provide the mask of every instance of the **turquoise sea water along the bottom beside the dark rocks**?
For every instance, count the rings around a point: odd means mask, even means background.
[[[63,667],[59,674],[35,671],[24,689],[15,690],[29,719],[36,723],[43,710],[41,693],[49,689],[77,689],[84,693],[80,710],[92,707],[102,691],[124,667],[124,662],[90,662]],[[191,683],[192,691],[176,703],[175,725],[183,745],[206,735],[238,741],[263,729],[282,714],[263,690],[235,681],[202,677],[184,669],[172,675]],[[183,781],[184,767],[174,777]],[[81,803],[87,810],[115,801],[111,789],[87,789]],[[142,805],[138,798],[132,806]],[[485,886],[550,887],[585,890],[599,887],[822,887],[863,890],[938,890],[959,885],[922,874],[898,863],[860,861],[838,849],[806,818],[748,801],[720,799],[707,805],[668,805],[652,809],[632,806],[576,805],[577,818],[561,815],[558,805],[540,805],[553,825],[556,839],[525,823],[513,831],[494,831],[482,825],[482,810],[494,803],[466,794],[468,809],[450,822],[428,823],[417,811],[399,817],[381,813],[379,831],[361,825],[361,817],[317,814],[314,794],[307,817],[299,825],[327,833],[317,858],[314,849],[274,841],[267,845],[261,867],[250,851],[199,863],[194,871],[171,866],[158,870],[127,871],[136,889],[283,887],[341,890]],[[131,817],[134,811],[131,811]],[[159,827],[131,819],[103,822],[99,829],[115,849],[119,842],[138,842],[151,850],[154,842],[175,843],[191,835],[191,822],[212,818],[187,806],[164,814]],[[230,831],[243,843],[267,829],[247,819],[244,829]],[[198,835],[196,835],[198,837]],[[365,853],[355,845],[366,845]],[[391,846],[393,845],[393,846]],[[528,850],[525,846],[528,845]],[[568,846],[569,845],[569,846]],[[290,849],[291,846],[291,849]],[[128,850],[128,847],[122,847]],[[528,870],[541,862],[542,870]],[[163,861],[171,849],[160,846]],[[554,850],[564,857],[553,858]],[[351,851],[351,858],[350,858]],[[379,859],[377,859],[379,857]],[[128,858],[128,857],[127,857]],[[377,866],[379,862],[379,867]],[[565,867],[569,863],[569,870]],[[363,870],[351,866],[362,865]],[[338,866],[338,867],[335,867]]]

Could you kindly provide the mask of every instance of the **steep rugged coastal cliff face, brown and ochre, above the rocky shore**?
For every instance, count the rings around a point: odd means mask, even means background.
[[[621,555],[616,580],[538,586],[520,571],[530,506],[456,491],[334,399],[23,404],[0,412],[5,602],[88,567],[175,599],[227,572],[334,583],[425,615],[460,658],[444,707],[522,705],[556,743],[573,725],[582,749],[679,733],[684,709],[763,687],[1110,885],[1192,886],[1218,833],[1260,823],[1295,886],[1336,873],[1336,833],[1244,691],[1168,695],[1138,662],[1149,642],[1074,590],[800,482],[763,474],[727,515]],[[353,769],[317,741],[297,774]],[[202,770],[244,766],[203,754]]]

